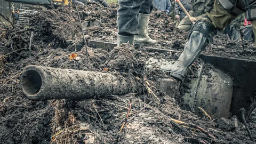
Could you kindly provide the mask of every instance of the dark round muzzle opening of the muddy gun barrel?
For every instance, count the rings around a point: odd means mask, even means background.
[[[28,95],[34,95],[39,92],[42,86],[42,78],[35,70],[28,70],[21,77],[22,89]]]

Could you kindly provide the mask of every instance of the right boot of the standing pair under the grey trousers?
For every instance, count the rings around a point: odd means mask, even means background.
[[[148,22],[150,14],[139,13],[139,34],[135,36],[135,44],[156,44],[157,42],[148,36]]]

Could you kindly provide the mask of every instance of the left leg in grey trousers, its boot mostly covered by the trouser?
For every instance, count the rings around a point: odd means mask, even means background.
[[[129,42],[134,44],[134,35],[138,35],[138,13],[145,0],[119,0],[117,10],[117,45]]]

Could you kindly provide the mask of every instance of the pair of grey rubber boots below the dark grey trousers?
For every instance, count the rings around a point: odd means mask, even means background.
[[[117,34],[117,46],[121,46],[123,43],[135,44],[156,44],[157,42],[148,36],[148,23],[150,14],[139,13],[139,34],[134,36],[123,36]]]

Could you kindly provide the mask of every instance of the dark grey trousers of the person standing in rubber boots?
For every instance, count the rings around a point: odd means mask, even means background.
[[[153,0],[119,0],[117,28],[119,35],[138,35],[138,14],[150,14]]]

